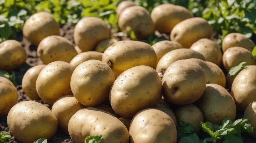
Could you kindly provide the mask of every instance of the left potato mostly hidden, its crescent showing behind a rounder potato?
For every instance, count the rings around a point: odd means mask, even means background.
[[[22,78],[22,89],[25,94],[32,100],[40,99],[36,90],[36,81],[39,73],[46,65],[36,65],[26,71]]]

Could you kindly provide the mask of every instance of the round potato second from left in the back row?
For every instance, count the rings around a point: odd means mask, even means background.
[[[75,26],[75,44],[83,51],[93,51],[102,41],[111,36],[107,23],[97,17],[82,18]]]

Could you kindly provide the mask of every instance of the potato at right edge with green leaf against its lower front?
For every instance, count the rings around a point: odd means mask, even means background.
[[[231,47],[223,54],[222,63],[226,71],[229,71],[241,62],[246,62],[246,65],[256,65],[252,53],[245,48]]]

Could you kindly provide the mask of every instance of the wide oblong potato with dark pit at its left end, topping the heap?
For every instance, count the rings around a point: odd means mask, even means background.
[[[138,65],[155,69],[156,53],[147,43],[124,40],[108,47],[102,55],[102,61],[111,67],[117,78],[122,72]]]

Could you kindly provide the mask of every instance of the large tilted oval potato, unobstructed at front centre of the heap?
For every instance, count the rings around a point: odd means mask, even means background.
[[[145,65],[124,71],[109,93],[111,107],[123,117],[133,117],[139,111],[154,107],[162,98],[162,84],[157,72]]]

